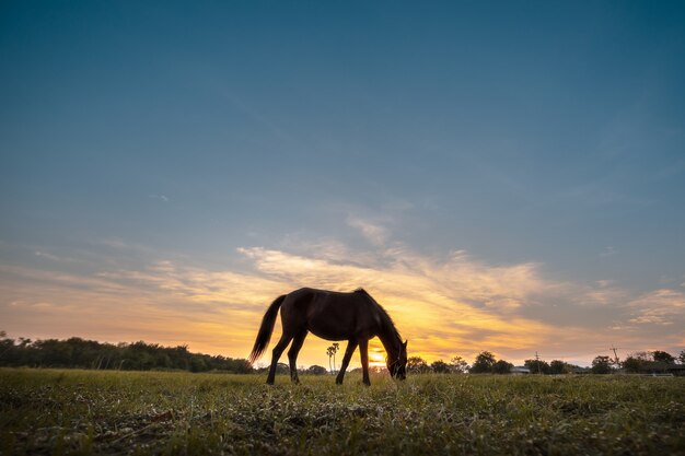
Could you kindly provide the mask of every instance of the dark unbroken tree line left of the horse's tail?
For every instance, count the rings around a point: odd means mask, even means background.
[[[66,340],[14,340],[7,338],[4,331],[0,331],[0,366],[253,372],[247,360],[190,353],[188,346],[162,347],[143,341],[113,344],[79,337]]]

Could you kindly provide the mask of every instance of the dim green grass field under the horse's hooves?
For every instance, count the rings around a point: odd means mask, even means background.
[[[685,378],[0,370],[14,454],[685,455]]]

